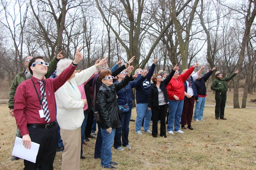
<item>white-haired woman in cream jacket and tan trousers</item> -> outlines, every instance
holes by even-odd
[[[66,58],[57,64],[56,75],[62,73],[72,60]],[[81,126],[84,119],[83,107],[85,99],[81,99],[78,86],[86,82],[97,71],[98,66],[106,63],[105,58],[94,66],[74,73],[61,88],[55,92],[57,106],[57,121],[60,127],[64,150],[61,170],[79,170],[81,152]]]

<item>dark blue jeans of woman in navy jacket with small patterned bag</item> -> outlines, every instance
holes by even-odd
[[[129,144],[128,135],[129,135],[129,124],[130,117],[132,114],[132,110],[128,112],[121,113],[121,128],[117,128],[115,130],[115,138],[114,138],[114,148],[118,148],[121,146],[127,146]],[[121,143],[122,137],[122,143]]]

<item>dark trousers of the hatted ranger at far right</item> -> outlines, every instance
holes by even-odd
[[[227,93],[219,93],[216,91],[215,93],[215,118],[223,118],[224,110],[226,106]]]

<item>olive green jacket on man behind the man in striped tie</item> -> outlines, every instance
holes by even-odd
[[[56,70],[58,61],[59,60],[57,59],[57,57],[53,58],[50,61],[49,67],[47,69],[47,73],[45,75],[46,79],[49,78],[50,75],[52,75],[52,73]],[[11,88],[10,88],[10,93],[9,93],[9,101],[8,101],[9,109],[13,109],[13,107],[14,107],[14,95],[15,95],[18,85],[26,80],[25,71],[26,71],[26,69],[19,72],[13,79],[13,82],[11,83]]]

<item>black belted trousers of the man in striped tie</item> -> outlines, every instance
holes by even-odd
[[[57,124],[49,129],[28,127],[32,142],[40,144],[35,163],[24,160],[24,170],[53,170],[57,149]]]

